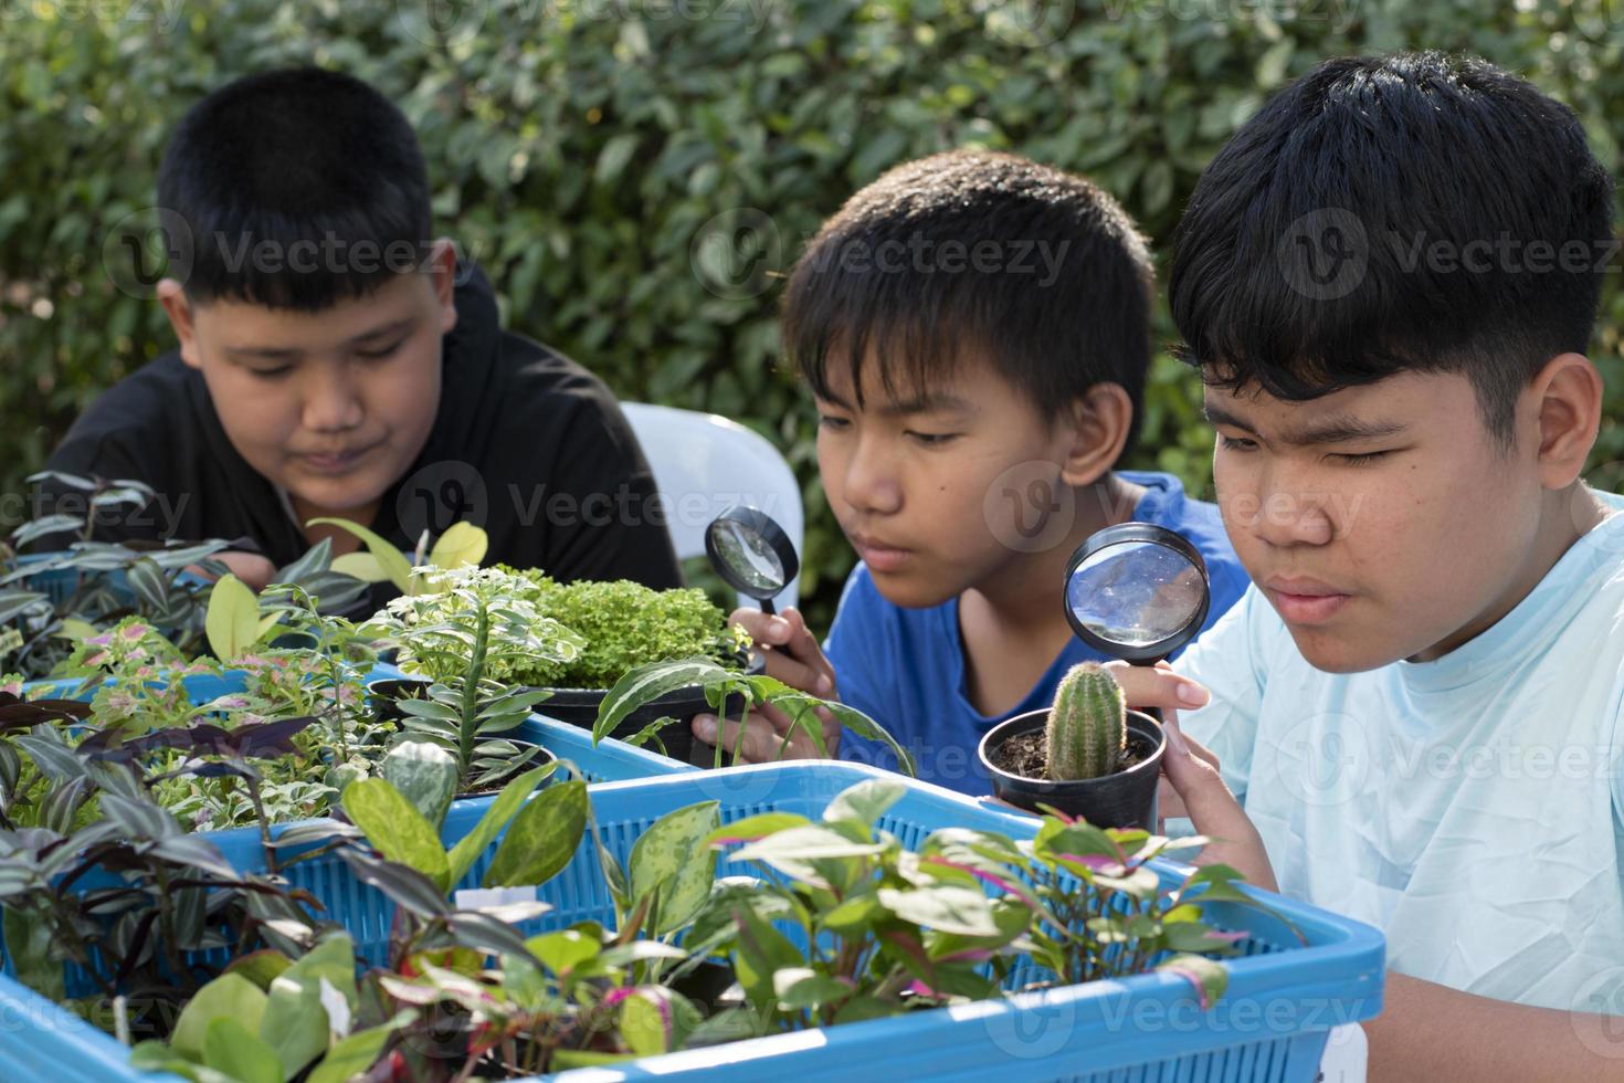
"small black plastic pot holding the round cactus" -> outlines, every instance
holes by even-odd
[[[992,776],[992,794],[1004,802],[1043,813],[1039,805],[1051,805],[1070,817],[1080,817],[1099,828],[1156,830],[1156,779],[1161,774],[1161,755],[1168,739],[1156,719],[1140,711],[1127,713],[1129,749],[1138,763],[1106,774],[1070,783],[1049,778],[1010,774],[992,763],[991,752],[1005,740],[1041,731],[1049,723],[1049,708],[1028,711],[1005,719],[987,731],[976,749],[981,765]]]

